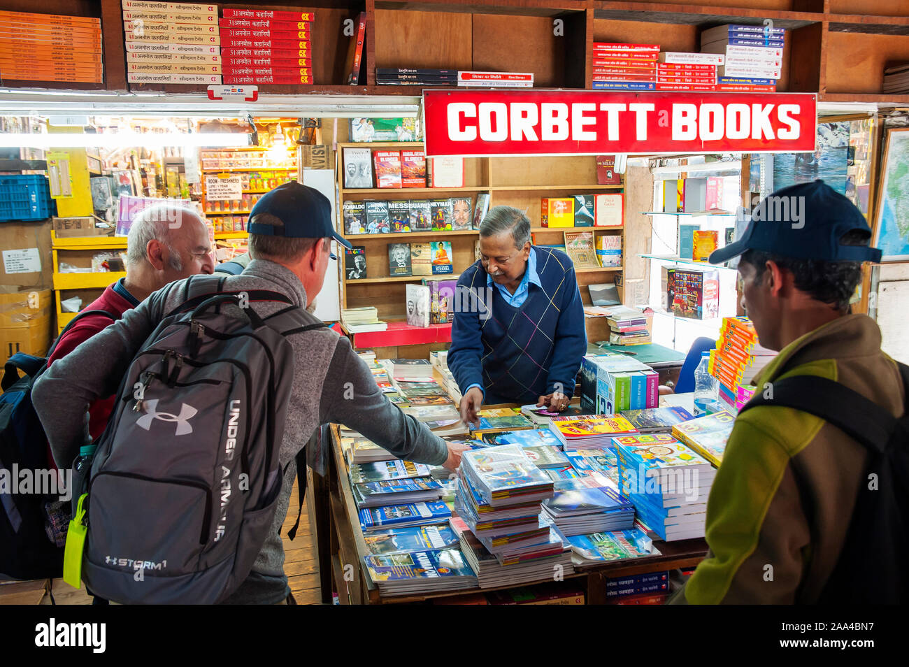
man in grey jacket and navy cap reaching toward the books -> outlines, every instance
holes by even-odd
[[[248,229],[252,261],[242,274],[225,276],[221,289],[274,291],[300,308],[314,301],[322,289],[325,270],[335,259],[330,252],[332,239],[351,247],[335,232],[325,195],[298,183],[286,183],[265,194],[250,213]],[[61,467],[73,462],[83,444],[85,405],[98,395],[117,391],[125,367],[155,326],[185,301],[184,287],[185,281],[177,281],[155,292],[122,320],[54,363],[35,384],[35,407]],[[260,301],[255,312],[267,318],[286,307]],[[225,306],[225,313],[231,308]],[[312,321],[318,322],[315,317]],[[287,369],[294,373],[294,382],[279,453],[285,479],[272,530],[253,571],[228,603],[275,604],[289,599],[280,531],[294,485],[295,466],[290,463],[320,424],[343,423],[395,456],[445,465],[452,471],[464,450],[463,445],[445,443],[389,403],[345,337],[320,328],[290,334],[287,340],[294,348],[294,367]]]

